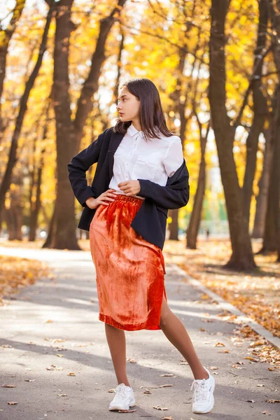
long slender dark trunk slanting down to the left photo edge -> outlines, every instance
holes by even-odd
[[[13,132],[13,137],[10,144],[8,165],[6,167],[6,172],[3,176],[3,180],[0,186],[0,212],[1,212],[1,209],[3,208],[6,192],[10,188],[10,180],[12,177],[13,167],[15,166],[15,162],[17,161],[18,139],[20,137],[20,132],[22,130],[23,119],[25,118],[25,113],[27,111],[27,102],[29,99],[29,94],[31,92],[32,87],[34,86],[36,77],[38,76],[38,71],[41,68],[41,64],[43,60],[43,54],[47,48],[48,30],[50,28],[51,19],[52,19],[52,8],[50,8],[48,11],[48,16],[45,22],[45,29],[43,31],[43,38],[41,41],[40,50],[38,52],[38,58],[37,58],[36,64],[25,85],[25,92],[20,99],[20,110],[18,112],[18,117],[15,121],[15,130]]]

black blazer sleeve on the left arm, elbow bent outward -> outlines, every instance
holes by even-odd
[[[102,140],[108,130],[109,129],[105,130],[102,134],[99,134],[97,139],[92,141],[90,146],[87,146],[83,151],[80,151],[80,153],[74,156],[67,165],[71,188],[76,199],[83,207],[87,207],[85,204],[87,198],[95,197],[94,190],[91,186],[87,185],[85,172],[91,165],[98,162]]]

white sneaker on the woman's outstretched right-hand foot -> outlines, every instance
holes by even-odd
[[[195,379],[190,390],[195,387],[193,393],[193,413],[208,413],[214,407],[215,379],[209,370],[203,366],[209,374],[208,379]]]

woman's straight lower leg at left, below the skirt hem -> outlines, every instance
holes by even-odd
[[[118,384],[130,386],[127,379],[125,331],[107,323],[105,323],[105,331]]]

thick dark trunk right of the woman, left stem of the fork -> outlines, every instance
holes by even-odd
[[[232,243],[232,255],[226,267],[251,270],[255,262],[232,151],[235,128],[230,125],[225,107],[225,17],[228,4],[228,0],[212,0],[211,3],[209,103]]]

